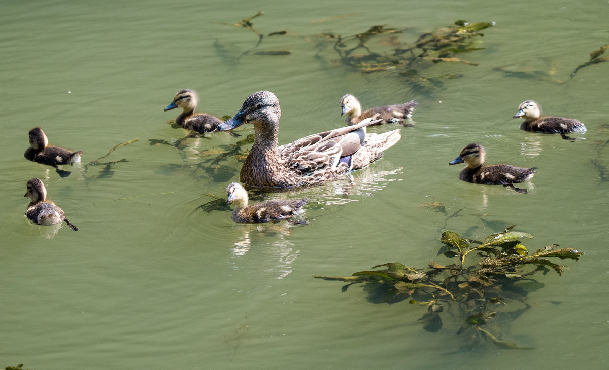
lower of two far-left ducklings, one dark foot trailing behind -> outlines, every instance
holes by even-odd
[[[40,179],[33,178],[27,181],[27,192],[24,197],[32,199],[27,206],[26,216],[33,222],[38,225],[55,225],[65,221],[69,228],[78,231],[78,228],[68,221],[63,209],[46,198],[46,189]]]

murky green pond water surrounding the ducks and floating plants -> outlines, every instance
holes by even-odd
[[[607,368],[609,63],[569,79],[609,42],[607,2],[5,1],[0,10],[0,367]],[[259,10],[256,30],[287,30],[259,48],[289,55],[238,58],[258,37],[220,23]],[[478,66],[426,71],[444,76],[437,89],[343,68],[332,43],[313,37],[384,24],[408,27],[398,38],[413,43],[457,19],[496,26],[479,39],[485,49],[459,55]],[[280,144],[340,127],[346,93],[364,109],[419,106],[415,127],[353,183],[253,198],[308,197],[308,225],[237,225],[228,208],[201,206],[225,198],[241,164],[205,151],[253,128],[185,138],[167,124],[177,111],[163,111],[183,88],[216,116],[275,92]],[[527,99],[584,122],[585,139],[519,130],[512,115]],[[24,159],[35,126],[51,144],[84,149],[83,164],[60,178]],[[102,159],[127,161],[85,166],[132,139]],[[462,167],[448,162],[470,142],[487,148],[488,163],[538,167],[529,194],[459,181]],[[33,177],[80,231],[27,222]],[[446,212],[422,206],[434,202]],[[446,229],[477,239],[512,224],[535,236],[529,250],[586,253],[562,261],[572,268],[564,276],[536,276],[545,286],[530,293],[532,309],[502,327],[502,340],[530,351],[464,350],[460,322],[429,333],[417,322],[424,308],[373,304],[361,287],[341,293],[340,282],[311,278],[446,263],[436,256]]]

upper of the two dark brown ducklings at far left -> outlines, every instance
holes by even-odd
[[[40,127],[34,127],[29,132],[30,136],[30,147],[27,148],[23,154],[26,159],[30,161],[38,162],[41,164],[48,164],[55,168],[60,176],[66,177],[71,172],[60,170],[59,165],[69,164],[72,166],[74,163],[80,163],[80,156],[83,150],[78,152],[72,152],[72,150],[54,147],[49,145],[49,139],[44,134],[44,131]]]

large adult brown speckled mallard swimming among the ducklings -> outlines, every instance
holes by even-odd
[[[246,123],[254,125],[255,140],[241,167],[241,183],[251,187],[293,187],[332,180],[368,166],[401,137],[399,129],[366,134],[365,127],[376,123],[367,119],[278,147],[280,118],[275,94],[258,91],[245,99],[233,118],[218,127],[232,130]]]

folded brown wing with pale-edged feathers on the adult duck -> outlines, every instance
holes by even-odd
[[[361,148],[365,127],[375,123],[370,119],[364,120],[357,125],[312,134],[277,149],[286,166],[301,176],[322,169],[336,169],[340,158],[350,156]]]

